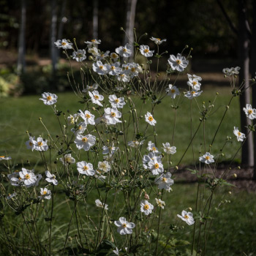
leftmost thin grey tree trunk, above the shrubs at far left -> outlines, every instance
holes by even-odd
[[[26,0],[21,0],[21,18],[20,18],[20,32],[19,32],[19,42],[18,42],[18,63],[17,72],[20,75],[26,72]]]

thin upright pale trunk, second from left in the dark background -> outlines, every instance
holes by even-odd
[[[57,26],[57,14],[56,14],[56,0],[51,1],[51,26],[50,26],[50,57],[52,61],[53,80],[56,77],[57,68],[57,50],[54,42],[56,42],[56,26]]]

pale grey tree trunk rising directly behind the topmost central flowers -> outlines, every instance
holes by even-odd
[[[124,45],[129,42],[133,44],[134,42],[134,31],[133,28],[135,26],[135,12],[136,12],[136,4],[137,0],[127,0],[127,22],[125,31],[127,35],[124,36]],[[133,53],[131,58],[133,57]]]

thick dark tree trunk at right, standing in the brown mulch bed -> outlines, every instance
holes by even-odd
[[[246,20],[246,3],[243,0],[238,1],[238,12],[239,12],[239,30],[238,30],[238,50],[239,50],[239,66],[241,72],[239,74],[239,84],[244,82],[244,88],[249,86],[249,31],[248,22]],[[248,127],[249,118],[246,117],[243,108],[246,103],[250,103],[250,90],[246,89],[244,94],[240,97],[240,116],[241,116],[241,131],[246,135],[249,133]],[[249,133],[242,147],[242,160],[241,165],[249,167],[254,165],[254,153],[253,153],[253,139],[252,132]]]

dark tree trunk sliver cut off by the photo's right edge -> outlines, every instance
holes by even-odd
[[[253,13],[252,13],[253,21],[252,21],[252,39],[251,39],[251,61],[250,61],[250,71],[252,78],[255,78],[256,72],[256,0],[253,1]],[[252,86],[252,108],[256,108],[256,85]],[[256,120],[254,120],[254,124],[256,124]],[[253,179],[256,180],[256,134],[254,132],[253,138],[253,146],[254,146],[254,168],[253,168]]]

